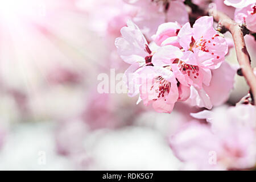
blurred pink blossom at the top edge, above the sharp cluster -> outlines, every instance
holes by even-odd
[[[148,39],[155,34],[159,24],[165,22],[178,22],[184,24],[188,22],[188,12],[184,5],[184,0],[171,1],[151,1],[151,0],[124,0],[125,2],[139,7],[137,15],[133,21],[138,24],[143,34]]]

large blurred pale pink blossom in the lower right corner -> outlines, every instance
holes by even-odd
[[[221,107],[193,116],[207,118],[210,123],[189,122],[170,138],[172,150],[185,167],[208,170],[248,169],[254,166],[254,106]]]

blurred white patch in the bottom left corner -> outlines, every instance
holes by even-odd
[[[13,126],[0,151],[1,170],[67,170],[71,164],[55,152],[52,123],[22,123]],[[46,154],[45,158],[41,154]],[[46,159],[42,163],[41,158]]]

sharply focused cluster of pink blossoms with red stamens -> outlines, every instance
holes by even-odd
[[[197,19],[193,27],[188,22],[183,26],[177,22],[160,24],[150,44],[131,20],[121,34],[115,46],[121,58],[131,64],[125,72],[130,96],[139,93],[144,105],[152,104],[163,113],[171,113],[175,102],[188,98],[212,107],[204,88],[228,53],[226,40],[213,28],[212,16]],[[198,97],[190,97],[195,92]]]

